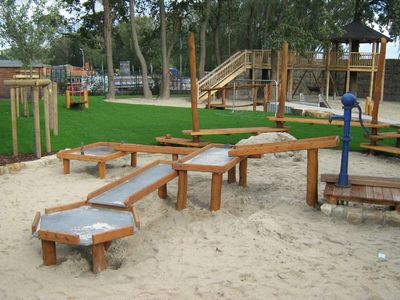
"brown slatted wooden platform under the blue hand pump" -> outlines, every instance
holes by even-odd
[[[400,178],[373,176],[349,176],[351,186],[336,186],[337,175],[323,174],[326,182],[324,197],[328,203],[337,204],[339,200],[393,206],[400,211]]]

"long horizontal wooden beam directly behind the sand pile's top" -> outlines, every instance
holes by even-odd
[[[289,128],[275,127],[248,127],[248,128],[217,128],[217,129],[201,129],[199,131],[182,130],[185,135],[202,136],[202,135],[231,135],[231,134],[260,134],[268,132],[288,132]]]

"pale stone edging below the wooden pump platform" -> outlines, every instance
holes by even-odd
[[[326,216],[345,219],[353,225],[372,223],[400,226],[400,213],[395,210],[376,210],[324,203],[321,205],[321,212]]]

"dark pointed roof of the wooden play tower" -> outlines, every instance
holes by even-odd
[[[331,36],[332,42],[348,43],[349,40],[359,41],[360,43],[379,42],[381,38],[385,38],[388,42],[392,39],[359,22],[353,21],[342,27],[342,34],[334,34]]]

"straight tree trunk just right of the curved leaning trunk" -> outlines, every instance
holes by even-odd
[[[161,57],[162,57],[162,76],[160,98],[168,99],[169,93],[169,69],[167,55],[167,29],[165,20],[165,4],[164,0],[159,0],[160,5],[160,25],[161,25]]]

